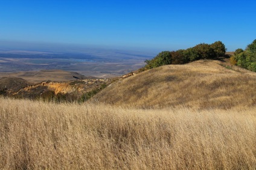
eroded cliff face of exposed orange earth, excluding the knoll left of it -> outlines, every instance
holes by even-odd
[[[15,79],[15,82],[17,80]],[[15,83],[13,82],[13,83]],[[94,90],[101,90],[110,84],[110,79],[78,79],[69,82],[51,82],[44,81],[35,85],[23,85],[16,88],[6,87],[5,93],[7,96],[22,97],[28,99],[39,98],[54,98],[61,96],[63,99],[67,97],[72,100],[77,100],[83,94],[89,93]],[[9,84],[12,84],[9,82]]]

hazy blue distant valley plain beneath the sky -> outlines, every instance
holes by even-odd
[[[154,55],[106,49],[75,52],[0,50],[0,76],[17,71],[65,70],[85,76],[115,77],[141,68],[144,61]]]

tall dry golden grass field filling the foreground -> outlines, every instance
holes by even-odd
[[[256,108],[132,109],[0,98],[0,169],[255,169]]]

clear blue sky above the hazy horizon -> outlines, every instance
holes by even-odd
[[[0,40],[186,49],[256,39],[256,1],[0,0]]]

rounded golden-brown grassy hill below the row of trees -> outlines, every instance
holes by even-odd
[[[94,101],[118,106],[233,108],[256,105],[256,73],[225,61],[164,65],[120,79]]]

